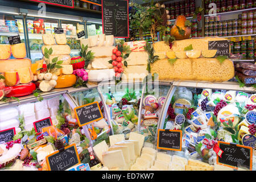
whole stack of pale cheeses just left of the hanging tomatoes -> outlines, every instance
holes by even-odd
[[[113,35],[95,35],[89,36],[88,39],[80,40],[81,46],[88,46],[87,51],[94,53],[94,59],[88,65],[88,81],[101,82],[113,80],[115,73],[112,64],[112,50],[115,48]]]

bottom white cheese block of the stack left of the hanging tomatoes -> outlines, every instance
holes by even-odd
[[[113,80],[115,76],[114,69],[88,69],[88,81],[109,81]]]

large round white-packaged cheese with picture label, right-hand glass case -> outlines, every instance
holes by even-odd
[[[237,115],[240,115],[238,108],[232,104],[229,104],[223,107],[220,111],[218,111],[217,121],[221,122],[222,127],[225,127],[223,125],[223,122],[226,122],[228,124],[230,120],[233,122],[234,128],[239,122],[239,118]]]

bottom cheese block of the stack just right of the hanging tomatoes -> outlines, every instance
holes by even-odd
[[[143,80],[147,74],[147,65],[123,67],[123,80]]]

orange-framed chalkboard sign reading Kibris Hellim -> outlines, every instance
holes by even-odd
[[[65,147],[63,151],[56,151],[46,156],[49,171],[65,171],[72,166],[80,164],[76,144]]]

